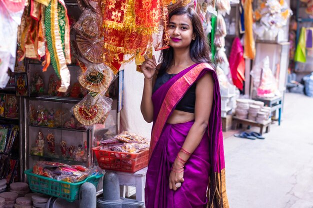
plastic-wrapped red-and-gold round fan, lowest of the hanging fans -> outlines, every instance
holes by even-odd
[[[86,95],[79,103],[74,105],[71,112],[78,122],[85,126],[91,126],[101,120],[110,111],[112,99],[104,98],[100,94],[92,98]]]

